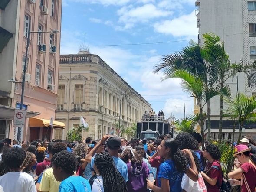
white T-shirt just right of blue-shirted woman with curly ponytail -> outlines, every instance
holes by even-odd
[[[181,188],[186,192],[207,192],[201,173],[198,173],[198,181],[195,182],[186,174],[182,177]]]

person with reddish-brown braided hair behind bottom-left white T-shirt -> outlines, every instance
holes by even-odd
[[[36,172],[32,168],[36,165],[36,155],[32,152],[26,152],[26,157],[20,166],[21,171],[30,174],[33,178],[36,177]]]

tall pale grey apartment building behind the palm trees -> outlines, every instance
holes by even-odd
[[[256,1],[254,0],[197,0],[196,10],[197,27],[199,29],[198,42],[202,44],[203,33],[213,32],[223,39],[225,51],[229,54],[231,62],[253,62],[256,59]],[[232,97],[236,97],[237,86],[240,92],[246,96],[256,94],[256,86],[248,86],[245,75],[238,74],[227,81]],[[220,97],[214,97],[211,104],[211,136],[218,137]],[[195,112],[198,106],[195,102]],[[225,109],[225,103],[224,103]],[[205,109],[206,110],[206,109]],[[207,122],[205,122],[207,126]],[[206,127],[205,127],[206,128]],[[232,123],[223,121],[223,139],[232,138]],[[256,139],[256,124],[246,125],[243,135]],[[207,130],[206,130],[207,131]],[[238,129],[235,139],[238,137]]]

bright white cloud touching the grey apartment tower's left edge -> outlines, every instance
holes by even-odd
[[[182,15],[173,20],[165,20],[154,24],[158,33],[173,35],[174,37],[187,37],[195,39],[198,34],[197,18],[195,12]]]

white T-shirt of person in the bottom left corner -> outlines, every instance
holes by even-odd
[[[5,192],[36,192],[34,179],[22,171],[7,172],[3,176],[0,176],[0,185]]]

